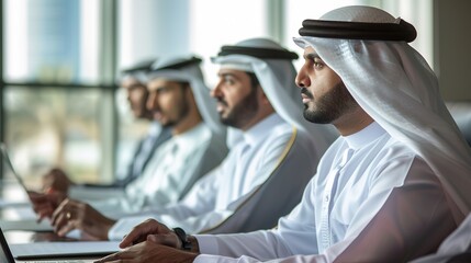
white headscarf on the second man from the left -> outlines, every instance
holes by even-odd
[[[213,133],[225,137],[225,127],[218,122],[215,100],[210,96],[210,90],[204,83],[203,73],[195,56],[164,57],[153,65],[147,75],[147,81],[164,78],[171,81],[188,82],[193,92],[198,110],[204,123]]]

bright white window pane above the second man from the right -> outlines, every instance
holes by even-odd
[[[191,1],[190,49],[206,59],[203,69],[209,85],[215,84],[217,79],[217,66],[209,58],[216,56],[221,46],[270,36],[268,4],[270,1],[260,0]]]

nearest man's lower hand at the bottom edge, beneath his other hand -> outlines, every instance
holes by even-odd
[[[149,236],[150,237],[150,236]],[[114,254],[96,261],[102,262],[130,262],[130,263],[154,263],[154,262],[193,262],[197,253],[178,250],[167,245],[158,244],[152,240],[132,245]]]

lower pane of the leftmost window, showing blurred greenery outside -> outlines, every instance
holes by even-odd
[[[75,180],[97,181],[100,91],[5,87],[7,144],[26,182],[59,165]],[[80,176],[77,178],[77,176]]]

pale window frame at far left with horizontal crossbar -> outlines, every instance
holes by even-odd
[[[102,161],[100,167],[100,180],[110,180],[113,176],[116,162],[116,141],[119,138],[119,119],[115,111],[115,94],[120,88],[116,83],[117,72],[117,3],[114,0],[100,1],[100,28],[102,34],[99,42],[99,80],[97,84],[87,84],[78,81],[77,83],[59,83],[59,82],[36,82],[36,81],[5,81],[3,71],[4,58],[4,23],[0,20],[0,141],[7,138],[7,114],[4,108],[4,93],[7,87],[26,87],[40,90],[41,89],[80,89],[80,90],[97,90],[103,93],[102,108],[100,123],[100,138],[102,139]],[[4,1],[0,4],[0,13],[4,15]],[[113,152],[113,155],[103,153]],[[0,180],[4,178],[3,162],[0,162]]]

